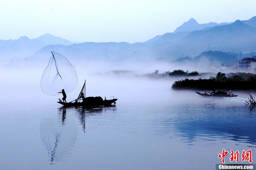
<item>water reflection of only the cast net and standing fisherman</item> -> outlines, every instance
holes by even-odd
[[[40,123],[41,138],[48,150],[51,164],[65,161],[71,155],[77,137],[76,122],[74,119],[66,119],[66,108],[59,109],[57,116],[44,118]]]

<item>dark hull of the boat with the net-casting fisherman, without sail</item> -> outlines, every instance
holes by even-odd
[[[63,106],[111,106],[112,103],[116,102],[117,99],[111,100],[102,100],[102,101],[86,101],[86,102],[74,102],[74,103],[66,103],[66,102],[57,102],[62,104]]]

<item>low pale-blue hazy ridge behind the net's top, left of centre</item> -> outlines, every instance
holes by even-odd
[[[49,60],[51,51],[61,53],[70,60],[86,62],[88,60],[123,61],[125,59],[139,59],[146,56],[148,47],[142,43],[129,44],[126,42],[95,43],[85,42],[70,46],[49,45],[38,50],[29,57],[31,60]]]

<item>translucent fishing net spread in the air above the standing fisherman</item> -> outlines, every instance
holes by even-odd
[[[62,89],[68,93],[75,89],[78,82],[75,67],[66,57],[52,52],[48,66],[44,69],[41,78],[41,89],[51,96],[60,95]]]

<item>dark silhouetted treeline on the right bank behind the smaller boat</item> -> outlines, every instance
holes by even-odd
[[[231,76],[232,75],[232,76]],[[250,73],[225,73],[219,72],[211,79],[182,79],[172,84],[173,89],[256,89],[256,75]]]

